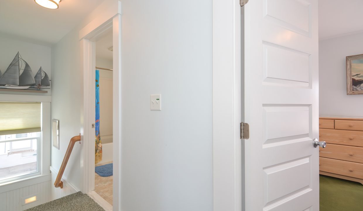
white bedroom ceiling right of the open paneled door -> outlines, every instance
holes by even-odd
[[[319,0],[319,40],[363,32],[362,0]]]

